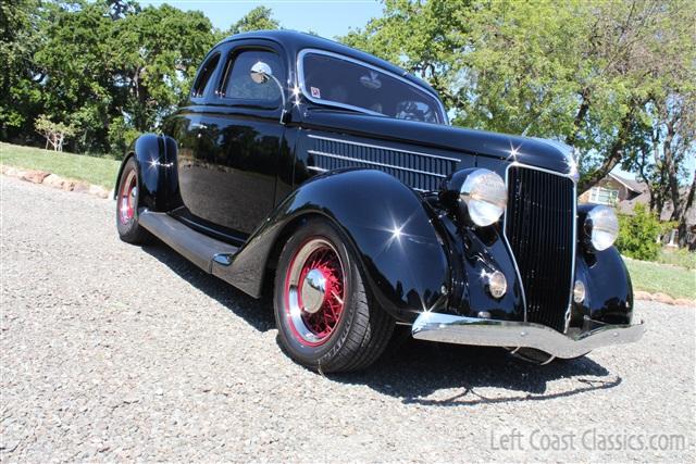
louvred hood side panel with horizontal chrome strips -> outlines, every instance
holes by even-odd
[[[455,172],[459,160],[415,151],[396,150],[328,137],[310,136],[309,168],[333,171],[346,167],[380,170],[414,190],[437,190],[442,180]]]

